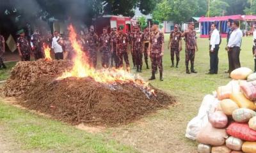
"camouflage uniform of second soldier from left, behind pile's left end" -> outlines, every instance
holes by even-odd
[[[17,40],[17,47],[20,47],[20,52],[22,54],[21,61],[30,61],[31,48],[29,46],[29,41],[24,37],[19,37]]]

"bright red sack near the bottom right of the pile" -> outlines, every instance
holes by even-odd
[[[233,122],[227,128],[228,135],[248,142],[256,142],[256,131],[249,128],[248,124]]]

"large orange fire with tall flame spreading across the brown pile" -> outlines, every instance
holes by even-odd
[[[143,81],[138,75],[134,75],[125,71],[124,69],[100,69],[96,70],[90,64],[88,64],[88,57],[84,54],[81,46],[77,41],[77,34],[74,30],[74,27],[70,25],[68,27],[69,30],[69,40],[72,43],[72,47],[74,48],[74,52],[76,52],[76,56],[73,58],[74,66],[71,71],[66,71],[63,75],[57,80],[61,80],[68,77],[91,77],[96,82],[100,82],[102,84],[115,85],[116,82],[120,84],[124,83],[134,83],[137,87],[140,87],[143,92],[148,96],[156,96],[153,89],[150,89],[147,82]]]

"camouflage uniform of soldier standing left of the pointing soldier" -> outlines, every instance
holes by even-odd
[[[181,34],[180,31],[171,31],[170,33],[170,41],[171,41],[171,61],[172,66],[174,65],[174,54],[176,55],[176,66],[178,66],[180,61],[180,41],[181,41]]]

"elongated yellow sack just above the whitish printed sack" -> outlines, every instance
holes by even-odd
[[[256,110],[256,105],[252,101],[246,99],[246,97],[242,93],[239,93],[239,94],[232,93],[231,96],[230,96],[230,99],[235,101],[236,104],[240,108],[248,108],[248,109],[251,109],[251,110]]]

